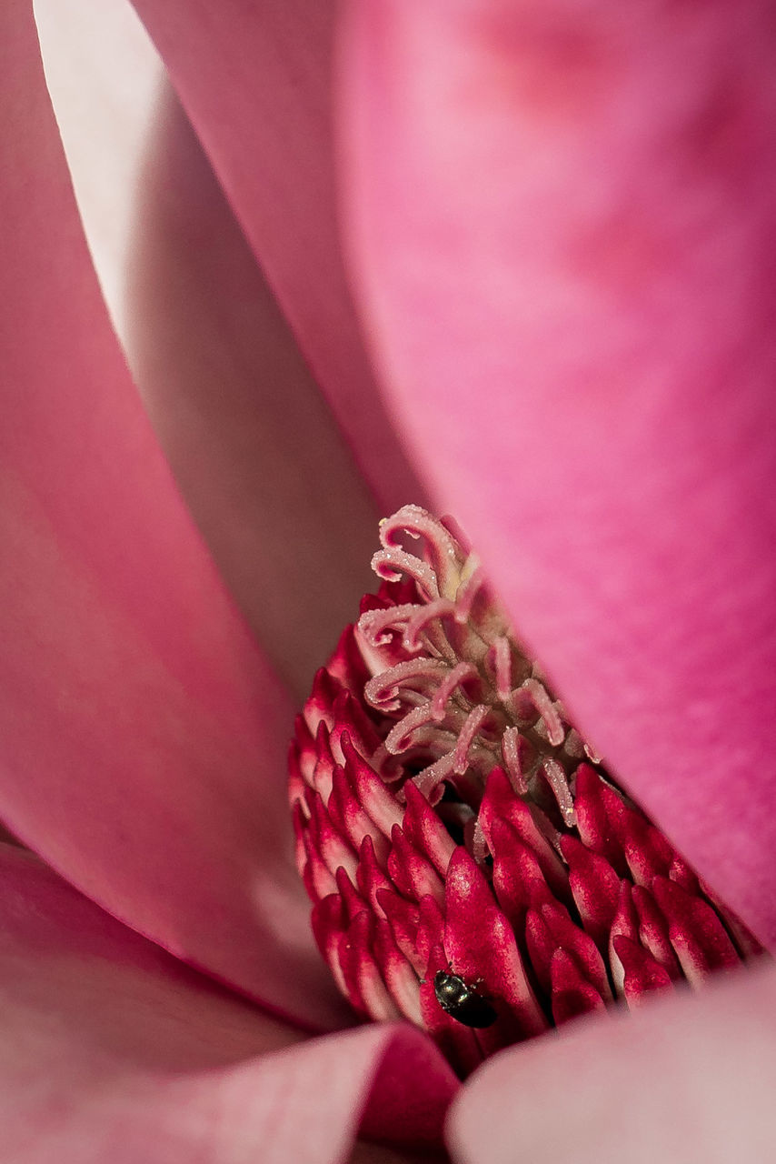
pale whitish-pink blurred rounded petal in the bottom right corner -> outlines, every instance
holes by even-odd
[[[770,1159],[775,1008],[769,966],[513,1048],[462,1090],[453,1154],[467,1164]]]

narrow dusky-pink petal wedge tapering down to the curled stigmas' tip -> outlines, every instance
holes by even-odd
[[[418,496],[376,396],[340,254],[333,0],[136,0],[269,284],[387,509]]]

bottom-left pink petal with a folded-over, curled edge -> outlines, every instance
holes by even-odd
[[[370,1027],[293,1046],[298,1032],[176,963],[30,854],[1,846],[0,871],[3,1159],[335,1164],[370,1092],[391,1110],[413,1086],[428,1098],[425,1123],[413,1127],[415,1103],[393,1143],[439,1136],[454,1084],[419,1032]]]

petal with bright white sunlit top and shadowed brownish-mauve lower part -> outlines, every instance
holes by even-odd
[[[38,23],[130,369],[221,576],[301,700],[369,585],[379,514],[131,7],[43,2]]]

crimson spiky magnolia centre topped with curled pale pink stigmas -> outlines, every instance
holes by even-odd
[[[760,952],[568,723],[460,531],[405,505],[380,541],[379,592],[318,673],[290,758],[313,929],[356,1010],[405,1016],[465,1073]],[[440,972],[494,1021],[448,1013]]]

